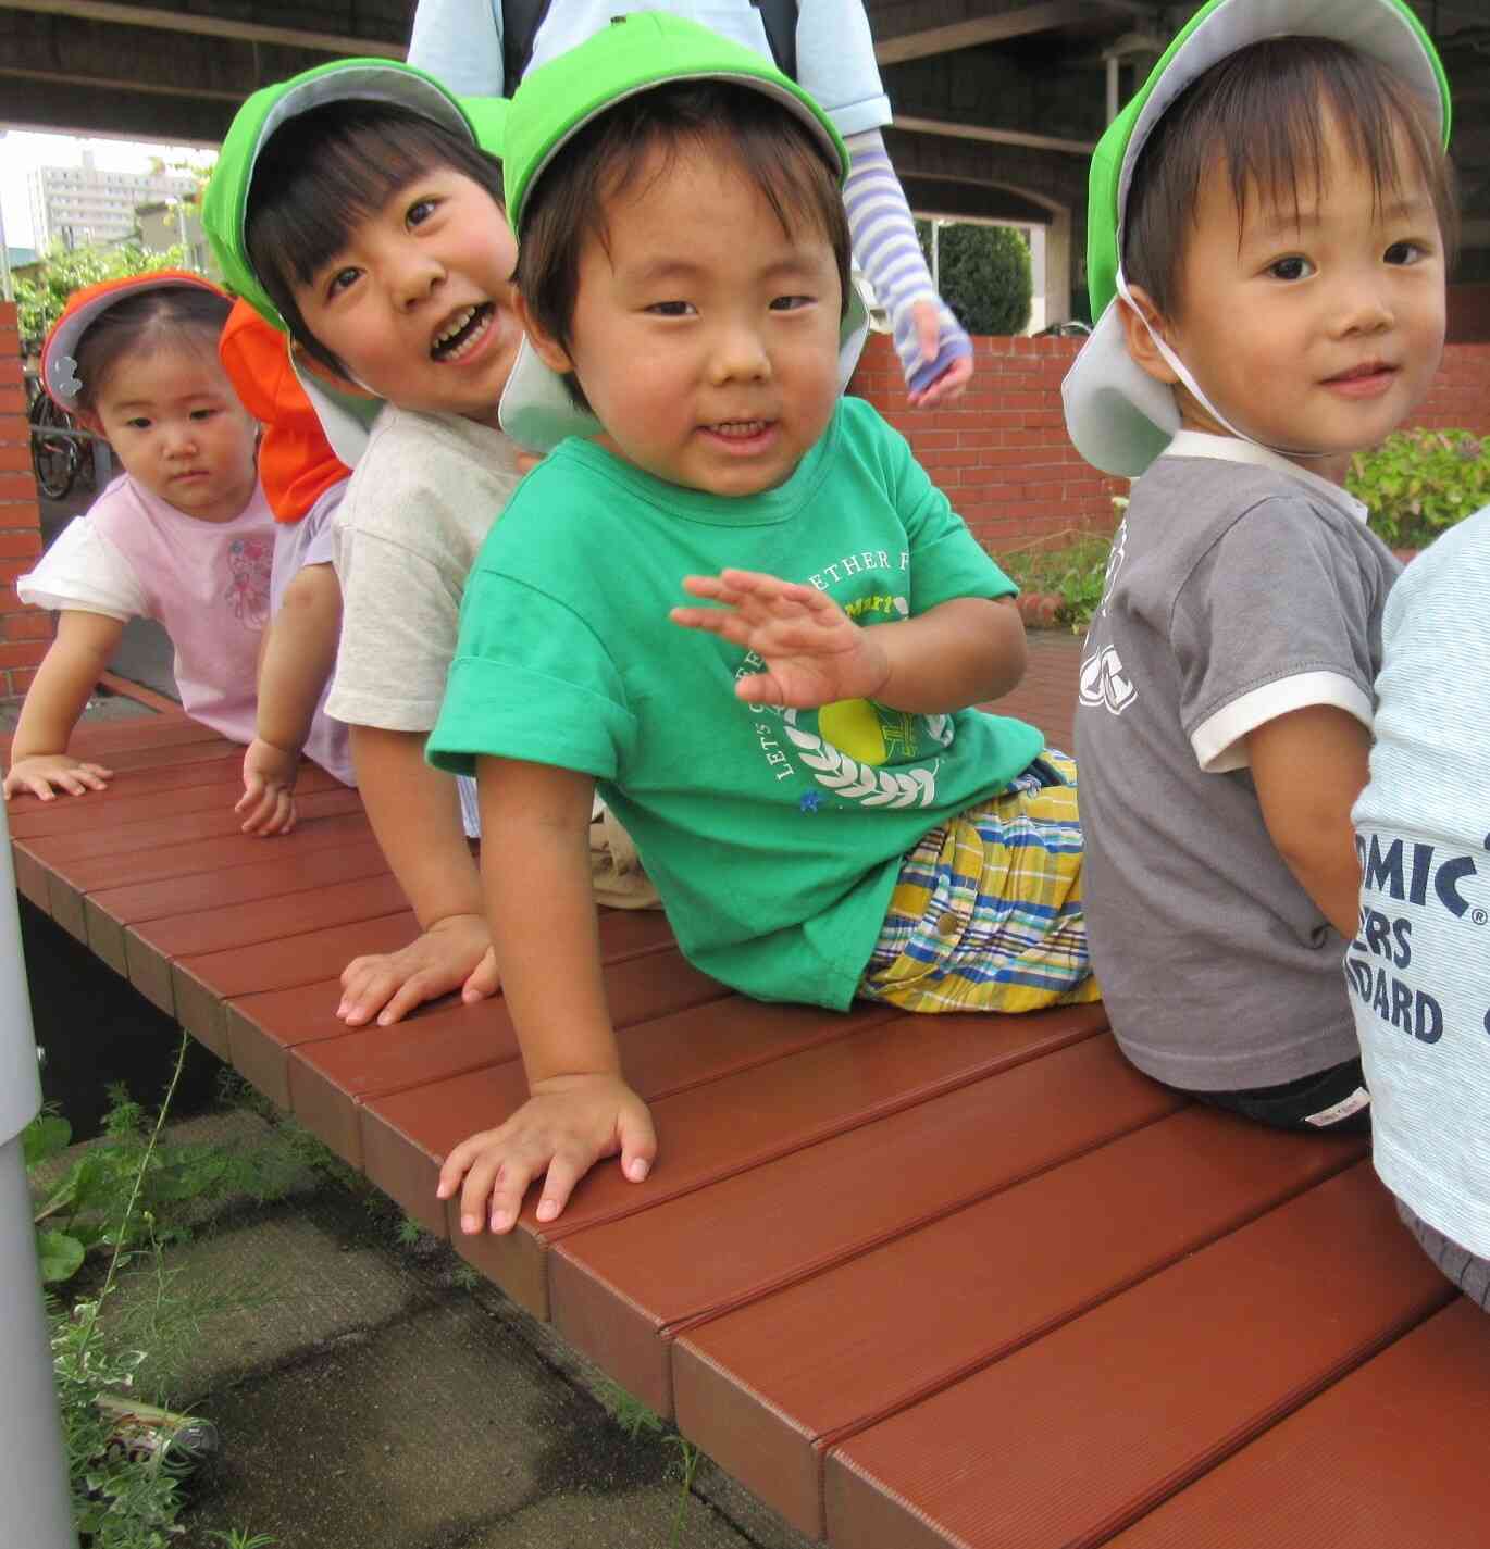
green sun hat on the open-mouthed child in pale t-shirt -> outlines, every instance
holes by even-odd
[[[254,91],[237,110],[202,200],[202,225],[223,280],[267,322],[288,333],[248,257],[245,220],[259,153],[274,130],[327,102],[386,102],[431,119],[493,156],[502,155],[509,102],[504,98],[457,98],[412,65],[391,59],[338,59]],[[367,445],[383,400],[343,392],[304,366],[291,352],[332,451],[349,468]]]

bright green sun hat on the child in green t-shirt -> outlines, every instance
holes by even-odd
[[[628,98],[676,81],[727,81],[780,102],[817,141],[839,183],[848,150],[823,110],[763,54],[698,22],[662,11],[633,11],[524,76],[507,118],[502,175],[507,218],[523,243],[523,214],[533,186],[558,152],[592,119]],[[868,333],[868,311],[851,285],[839,330],[839,389],[848,386]],[[580,421],[586,420],[586,424]],[[564,435],[595,435],[563,378],[524,339],[501,404],[502,429],[523,446],[547,451]]]

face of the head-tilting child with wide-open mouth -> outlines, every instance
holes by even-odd
[[[316,339],[377,397],[496,424],[521,339],[515,263],[491,195],[436,167],[357,226],[295,299]]]

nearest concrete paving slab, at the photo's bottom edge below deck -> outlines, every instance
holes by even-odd
[[[237,1524],[278,1549],[660,1546],[679,1499],[674,1448],[626,1439],[459,1293],[194,1413],[223,1442],[188,1520],[203,1541]],[[749,1543],[692,1507],[681,1544]]]

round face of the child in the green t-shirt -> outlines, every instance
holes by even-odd
[[[712,146],[657,150],[580,257],[574,369],[605,445],[690,489],[758,494],[791,477],[839,397],[837,262],[805,218],[788,232]]]

